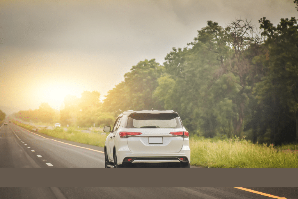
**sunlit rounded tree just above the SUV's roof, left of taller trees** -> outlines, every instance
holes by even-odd
[[[155,59],[145,59],[132,66],[131,71],[125,73],[125,80],[108,92],[103,102],[104,110],[118,114],[124,110],[159,109],[160,105],[153,99],[153,92],[162,72],[163,67]]]

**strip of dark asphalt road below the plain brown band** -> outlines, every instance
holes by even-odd
[[[260,188],[250,188],[260,189]],[[0,188],[0,198],[13,199],[297,199],[297,188],[261,188],[253,193],[236,188],[148,187],[148,188]],[[265,196],[264,194],[270,194]],[[263,195],[262,195],[263,194]],[[273,195],[274,194],[274,195]]]

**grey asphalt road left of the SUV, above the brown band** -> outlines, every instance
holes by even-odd
[[[29,132],[13,123],[0,128],[0,167],[104,167],[102,147]]]

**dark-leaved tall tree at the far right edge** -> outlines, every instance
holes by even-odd
[[[259,103],[270,104],[273,117],[268,121],[271,129],[271,142],[276,143],[278,136],[286,134],[289,120],[296,123],[298,140],[298,26],[297,20],[281,19],[275,27],[265,17],[259,20],[266,37],[268,56],[264,62],[267,74],[257,84],[256,93]],[[289,120],[284,120],[288,118]]]

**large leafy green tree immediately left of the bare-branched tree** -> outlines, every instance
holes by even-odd
[[[220,109],[218,104],[229,104],[218,103],[225,97],[215,96],[213,91],[216,82],[226,73],[224,62],[230,48],[226,45],[224,33],[218,23],[208,21],[188,47],[183,50],[173,48],[164,62],[168,76],[159,79],[156,89],[156,95],[164,101],[165,108],[179,112],[189,130],[206,137],[213,137],[221,131],[220,114],[216,114],[214,109]]]

